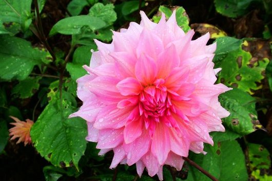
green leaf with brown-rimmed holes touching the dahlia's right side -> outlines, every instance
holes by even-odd
[[[219,96],[221,105],[230,112],[230,115],[223,118],[223,124],[230,130],[246,135],[257,129],[263,129],[257,119],[255,110],[255,98],[248,93],[233,89]]]

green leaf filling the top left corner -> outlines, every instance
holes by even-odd
[[[26,31],[31,23],[31,3],[32,0],[16,1],[2,0],[0,1],[0,19],[4,23],[15,22],[21,25],[23,31]]]

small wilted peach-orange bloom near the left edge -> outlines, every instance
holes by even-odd
[[[24,142],[25,146],[27,144],[31,144],[31,137],[30,137],[30,129],[33,125],[33,121],[30,119],[26,119],[26,122],[22,122],[17,117],[10,116],[16,123],[10,123],[14,125],[13,128],[9,129],[9,135],[12,136],[10,139],[13,140],[15,138],[19,138],[16,144]]]

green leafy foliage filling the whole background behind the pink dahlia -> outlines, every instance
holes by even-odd
[[[268,0],[0,0],[0,175],[3,180],[158,180],[135,166],[110,170],[112,153],[98,156],[85,141],[86,124],[67,116],[81,105],[75,80],[85,75],[93,39],[112,40],[111,30],[139,22],[139,10],[159,22],[177,21],[193,39],[210,32],[218,83],[233,90],[220,95],[231,113],[226,132],[211,133],[215,146],[189,157],[224,180],[272,180],[272,2]],[[13,120],[34,120],[33,145],[9,140]],[[16,174],[14,174],[16,173]],[[185,163],[165,167],[165,180],[209,180]]]

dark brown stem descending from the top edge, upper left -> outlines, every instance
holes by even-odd
[[[41,39],[41,41],[45,45],[46,49],[49,51],[50,55],[53,57],[53,60],[55,60],[56,56],[55,56],[53,50],[51,49],[51,47],[49,46],[49,44],[47,42],[47,38],[46,38],[46,36],[44,34],[43,24],[42,24],[42,20],[41,20],[40,11],[38,9],[38,2],[37,2],[37,0],[34,0],[34,5],[35,5],[36,14],[37,14],[37,28],[38,28],[38,32],[40,32],[39,33],[40,37],[38,36],[38,38]],[[33,33],[35,35],[37,35],[35,32],[33,32]]]

